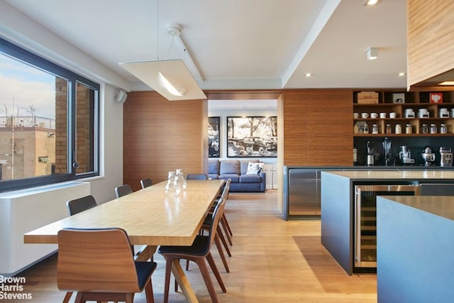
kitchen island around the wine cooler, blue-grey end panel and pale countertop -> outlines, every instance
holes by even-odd
[[[454,185],[451,170],[345,170],[321,172],[321,243],[349,275],[354,268],[355,185]],[[421,187],[422,188],[422,187]],[[421,197],[423,199],[423,197]]]

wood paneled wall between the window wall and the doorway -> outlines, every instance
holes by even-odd
[[[131,92],[123,111],[124,183],[139,189],[140,179],[167,180],[176,168],[185,174],[208,171],[206,100],[168,101],[156,92]]]

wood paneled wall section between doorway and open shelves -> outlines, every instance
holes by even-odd
[[[283,93],[284,165],[353,165],[353,90]]]

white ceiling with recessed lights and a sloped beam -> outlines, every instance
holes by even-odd
[[[397,76],[406,72],[406,0],[3,1],[131,87],[140,83],[119,62],[184,56],[167,34],[172,23],[182,25],[202,89],[406,87]],[[377,60],[366,60],[370,46]]]

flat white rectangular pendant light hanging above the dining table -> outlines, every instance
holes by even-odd
[[[125,62],[120,65],[167,100],[206,99],[183,60]]]

